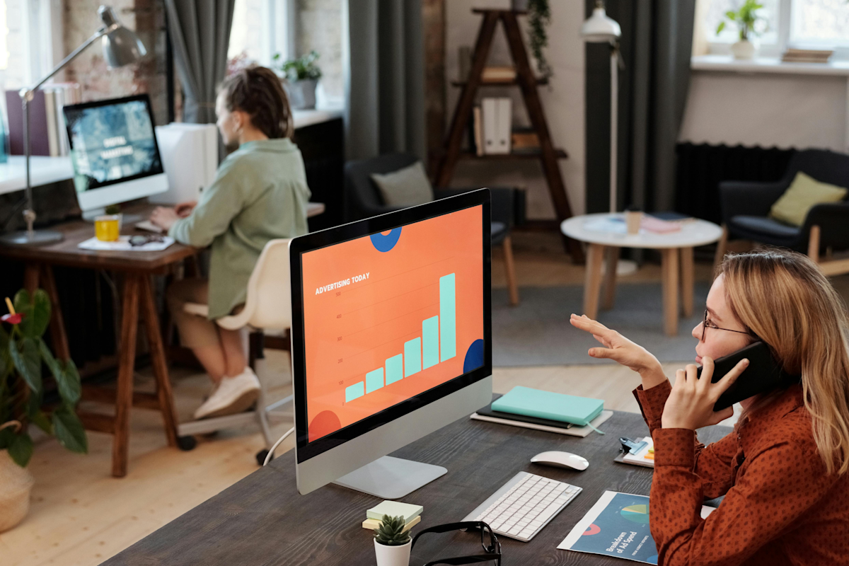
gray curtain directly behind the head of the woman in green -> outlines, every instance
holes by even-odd
[[[183,86],[183,121],[215,122],[216,86],[227,70],[236,0],[165,0],[168,33]]]

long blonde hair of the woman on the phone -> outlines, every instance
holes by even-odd
[[[720,272],[734,316],[769,345],[785,371],[801,374],[813,440],[827,472],[846,474],[849,318],[841,296],[807,255],[784,249],[727,255]]]

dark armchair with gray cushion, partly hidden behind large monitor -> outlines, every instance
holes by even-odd
[[[373,173],[391,173],[413,165],[418,157],[410,154],[380,155],[368,160],[349,161],[345,165],[345,193],[347,195],[346,219],[348,221],[368,218],[399,210],[403,207],[384,205],[380,190],[371,179]],[[445,199],[465,193],[471,188],[435,188],[434,199]],[[504,249],[504,267],[507,272],[507,287],[510,304],[519,304],[519,288],[516,283],[513,261],[513,246],[510,228],[525,218],[525,191],[517,188],[490,188],[492,193],[492,245],[501,244]]]

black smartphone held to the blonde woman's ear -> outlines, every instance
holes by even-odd
[[[714,411],[722,411],[725,407],[732,406],[734,403],[748,399],[753,395],[789,387],[792,384],[799,383],[801,379],[799,375],[786,373],[779,361],[773,357],[766,342],[758,340],[733,354],[714,360],[711,383],[715,384],[725,377],[725,374],[730,372],[744,358],[749,360],[749,367],[746,367],[743,373],[740,373],[737,381],[722,394],[713,406]],[[699,377],[701,377],[701,370],[700,367]]]

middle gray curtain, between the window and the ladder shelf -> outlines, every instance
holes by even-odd
[[[347,0],[346,157],[424,160],[421,0]]]

